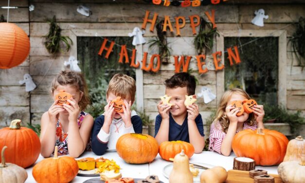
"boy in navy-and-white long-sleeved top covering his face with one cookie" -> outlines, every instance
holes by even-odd
[[[105,112],[97,117],[92,129],[92,150],[96,155],[116,151],[116,142],[126,133],[142,133],[142,120],[130,110],[135,101],[136,82],[125,74],[115,74],[108,85]],[[114,110],[112,100],[120,96],[124,100],[123,113]]]

